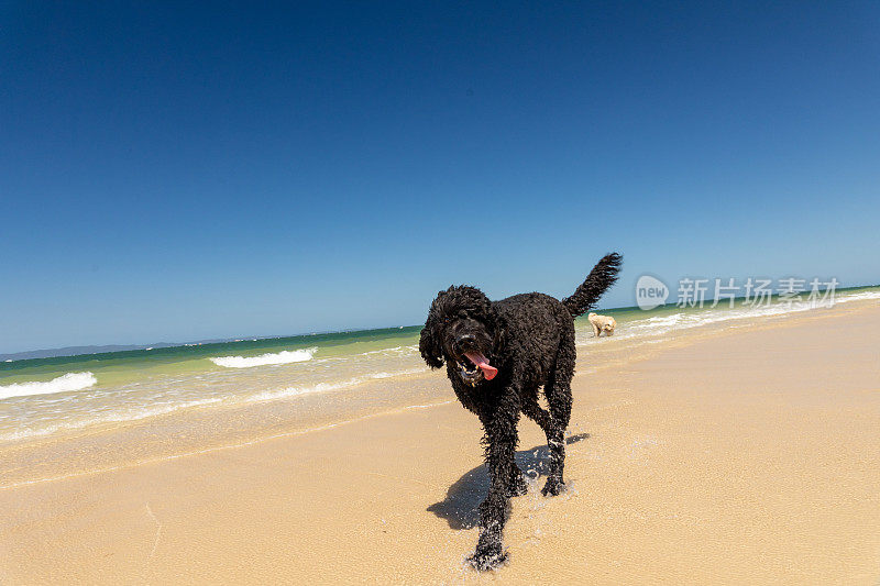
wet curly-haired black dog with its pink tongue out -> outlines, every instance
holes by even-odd
[[[561,302],[538,292],[490,301],[480,289],[463,285],[440,291],[431,303],[419,340],[421,356],[431,368],[446,361],[455,395],[477,414],[485,432],[492,484],[480,505],[480,541],[469,557],[477,570],[497,567],[506,560],[502,531],[509,499],[527,490],[514,462],[520,412],[547,434],[550,474],[541,493],[554,496],[564,487],[564,433],[576,357],[574,318],[614,284],[620,262],[617,253],[606,255]],[[538,405],[539,387],[549,412]]]

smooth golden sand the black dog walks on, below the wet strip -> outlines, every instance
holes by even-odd
[[[487,475],[479,423],[450,390],[0,490],[0,583],[877,584],[878,330],[877,302],[851,303],[576,376],[569,490],[546,499],[536,483],[514,499],[510,561],[494,573],[463,564]],[[519,449],[540,473],[530,421]]]

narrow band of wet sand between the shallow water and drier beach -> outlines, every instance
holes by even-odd
[[[784,328],[826,319],[828,312],[848,314],[876,303],[873,299],[860,299],[834,308],[721,319],[649,338],[636,345],[631,344],[637,335],[635,332],[629,338],[625,334],[600,341],[590,339],[579,344],[574,384],[580,377],[650,360],[671,349],[688,347],[745,330]],[[362,380],[330,392],[173,409],[168,413],[127,421],[121,427],[110,423],[7,442],[0,444],[0,462],[3,463],[0,465],[0,490],[302,435],[402,412],[414,405],[444,405],[454,400],[448,385],[443,369],[430,372],[426,368],[418,373]],[[205,432],[194,434],[198,429]]]

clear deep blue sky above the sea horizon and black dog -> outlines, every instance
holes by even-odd
[[[0,352],[880,281],[880,4],[642,4],[4,2]]]

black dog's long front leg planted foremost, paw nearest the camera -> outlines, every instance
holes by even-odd
[[[491,485],[486,499],[480,505],[480,541],[469,557],[480,571],[493,570],[505,562],[504,523],[510,512],[510,477],[517,446],[519,405],[517,392],[505,392],[491,413],[481,417],[485,430],[486,466]]]

